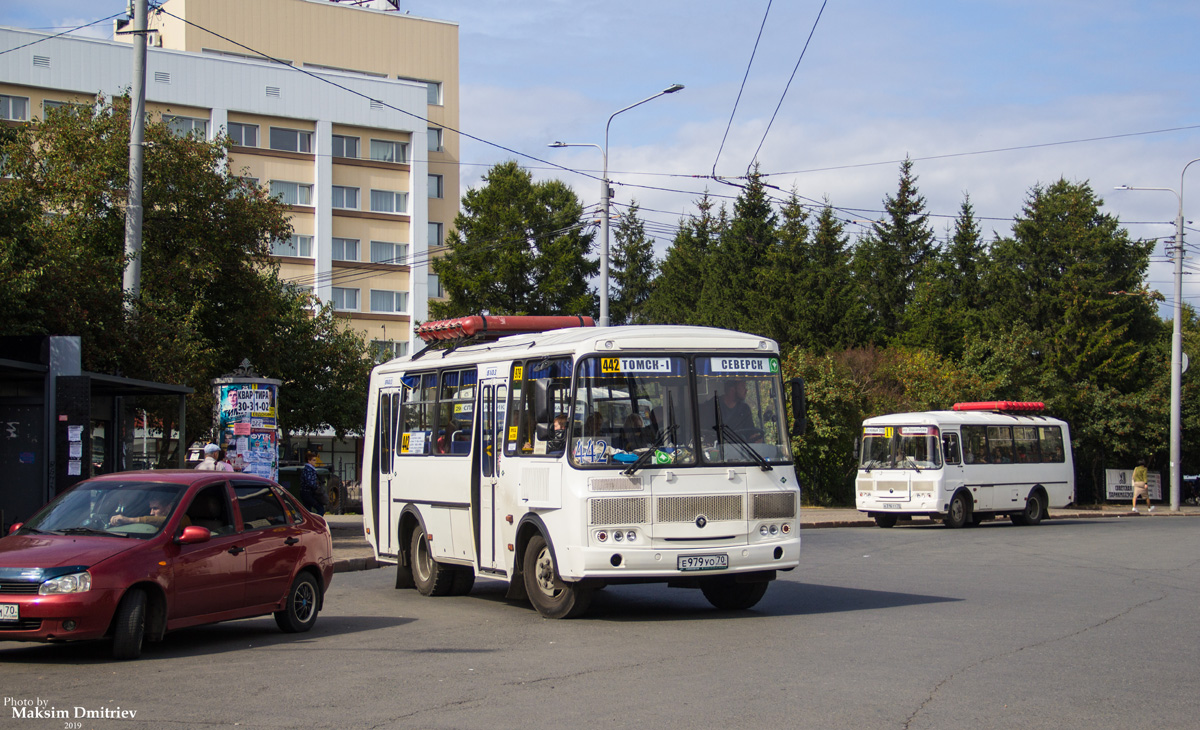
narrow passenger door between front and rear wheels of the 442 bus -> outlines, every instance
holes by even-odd
[[[500,478],[500,453],[504,449],[504,402],[508,387],[503,381],[480,381],[479,427],[479,510],[476,529],[479,539],[479,567],[484,570],[504,569],[503,515],[498,507],[497,491]]]

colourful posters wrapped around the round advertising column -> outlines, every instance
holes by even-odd
[[[217,385],[217,429],[229,463],[239,472],[277,479],[278,385],[223,383]]]

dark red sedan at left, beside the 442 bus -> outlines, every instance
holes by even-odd
[[[112,638],[113,657],[202,623],[317,622],[329,527],[278,484],[151,471],[80,481],[0,539],[0,641]]]

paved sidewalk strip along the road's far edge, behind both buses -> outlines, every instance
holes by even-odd
[[[1166,504],[1157,504],[1154,511],[1146,513],[1146,507],[1139,508],[1141,511],[1132,514],[1128,504],[1105,504],[1093,509],[1051,509],[1050,520],[1096,520],[1096,519],[1121,519],[1121,517],[1180,517],[1200,516],[1200,507],[1183,504],[1180,511],[1172,513]],[[1007,517],[1000,517],[1007,521]],[[344,573],[348,570],[371,570],[380,568],[376,562],[374,552],[362,534],[362,515],[325,515],[329,531],[334,537],[334,572]],[[926,517],[913,517],[913,523],[928,522]],[[904,522],[901,522],[902,525]],[[875,527],[875,520],[868,517],[857,509],[824,509],[820,507],[800,508],[800,528],[814,529],[821,527]]]

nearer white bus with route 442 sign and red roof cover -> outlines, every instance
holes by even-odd
[[[427,323],[422,337],[527,334],[374,369],[364,528],[377,558],[397,564],[397,588],[464,594],[476,575],[494,578],[563,618],[605,585],[667,582],[748,609],[799,564],[779,346],[698,327],[589,325]],[[803,382],[791,393],[803,424]]]

